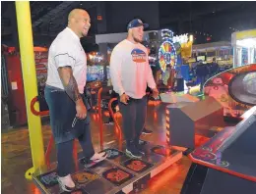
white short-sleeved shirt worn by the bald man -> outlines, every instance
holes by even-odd
[[[65,66],[72,68],[79,92],[83,94],[87,81],[87,56],[80,38],[69,27],[61,31],[50,45],[46,84],[64,89],[58,68]]]

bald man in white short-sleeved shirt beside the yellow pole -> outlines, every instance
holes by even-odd
[[[80,38],[88,34],[91,19],[85,10],[75,9],[68,26],[52,42],[48,53],[48,73],[44,90],[50,111],[50,125],[57,148],[58,181],[64,191],[72,191],[75,183],[72,148],[78,138],[86,168],[104,160],[106,153],[95,152],[92,144],[88,103],[83,95],[87,80],[87,57]]]

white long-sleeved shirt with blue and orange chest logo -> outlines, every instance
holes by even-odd
[[[113,89],[135,99],[146,95],[147,84],[156,88],[145,46],[125,39],[117,44],[110,58],[110,77]]]

